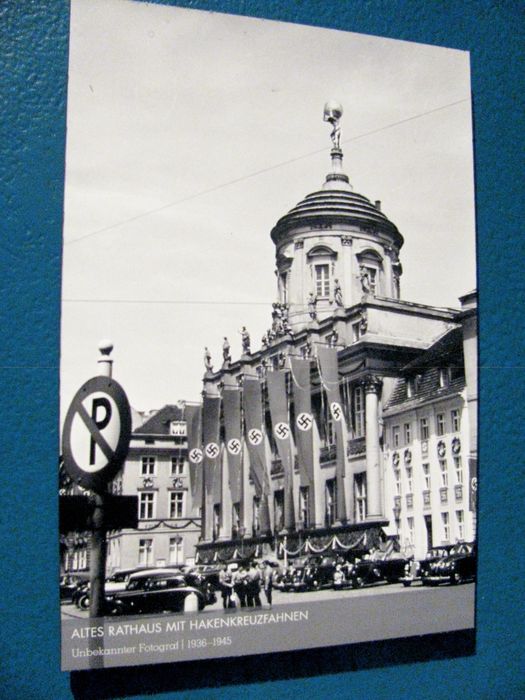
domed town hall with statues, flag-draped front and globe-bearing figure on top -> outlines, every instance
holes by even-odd
[[[392,414],[406,368],[462,321],[458,310],[401,298],[403,236],[379,201],[353,191],[341,115],[327,103],[324,183],[271,231],[271,327],[258,348],[244,329],[238,359],[225,338],[218,371],[207,360],[202,420],[188,437],[202,477],[203,562],[362,554],[404,542],[385,471],[385,409]]]

